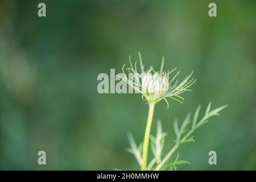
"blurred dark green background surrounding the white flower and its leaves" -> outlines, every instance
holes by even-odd
[[[39,18],[38,3],[47,16]],[[210,2],[217,17],[208,16]],[[209,101],[221,117],[180,148],[178,169],[256,169],[255,1],[0,1],[0,169],[139,169],[127,132],[141,142],[147,105],[139,94],[99,94],[99,73],[138,60],[195,73],[184,104],[162,101],[156,119],[174,142],[173,121]],[[38,151],[47,165],[38,165]],[[217,152],[217,165],[208,152]]]

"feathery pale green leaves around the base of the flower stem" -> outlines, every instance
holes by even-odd
[[[162,152],[164,148],[164,139],[166,138],[167,133],[163,133],[161,122],[157,122],[157,129],[155,137],[151,135],[151,150],[154,154],[154,158],[151,159],[150,163],[148,163],[148,170],[177,170],[177,165],[181,164],[189,164],[189,162],[185,160],[179,160],[179,153],[177,154],[174,161],[170,162],[171,156],[174,152],[179,148],[181,144],[195,142],[194,136],[192,136],[193,132],[198,129],[200,126],[203,126],[208,122],[210,117],[214,115],[219,116],[219,112],[227,107],[221,106],[216,109],[210,110],[211,103],[208,104],[207,109],[205,111],[204,116],[199,119],[200,113],[200,105],[197,107],[193,118],[191,118],[191,113],[185,117],[184,121],[181,123],[179,127],[177,119],[174,121],[174,132],[176,135],[175,145],[171,148],[171,150],[162,158]],[[137,147],[134,142],[133,136],[131,134],[128,135],[129,142],[131,148],[128,151],[135,156],[139,165],[142,164],[142,144]]]

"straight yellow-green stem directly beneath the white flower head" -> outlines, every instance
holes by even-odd
[[[155,104],[149,104],[147,126],[146,126],[144,141],[143,141],[143,153],[142,153],[142,165],[141,165],[142,171],[145,171],[146,167],[147,167],[148,142],[149,142],[149,138],[150,138],[150,129],[151,129],[151,123],[152,123],[152,119],[153,119],[154,106],[155,106]]]

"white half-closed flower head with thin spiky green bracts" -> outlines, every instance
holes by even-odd
[[[133,67],[129,57],[131,66],[130,68],[127,68],[129,78],[127,78],[125,74],[125,65],[123,65],[122,80],[129,84],[137,93],[141,93],[143,100],[146,100],[149,104],[156,104],[163,99],[166,101],[167,106],[169,106],[166,98],[172,98],[173,100],[182,103],[184,98],[181,97],[180,94],[185,91],[192,91],[188,88],[196,81],[194,78],[191,78],[193,72],[189,76],[185,77],[180,83],[177,80],[175,81],[175,78],[180,72],[177,72],[176,75],[170,79],[171,73],[173,73],[176,68],[171,71],[163,72],[164,59],[162,59],[162,65],[159,72],[156,72],[153,68],[150,68],[145,72],[144,65],[142,64],[141,53],[138,54],[141,73],[138,73],[137,71],[137,62],[135,62]],[[174,84],[172,84],[173,82]]]

